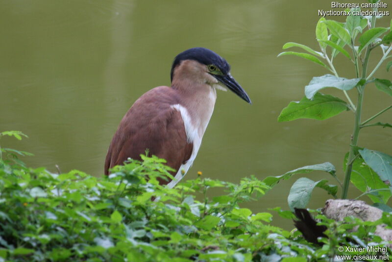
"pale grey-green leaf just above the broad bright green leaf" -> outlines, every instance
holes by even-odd
[[[305,86],[305,95],[308,99],[313,99],[314,95],[323,88],[335,87],[340,90],[350,90],[354,88],[361,79],[345,79],[337,78],[332,75],[324,75],[321,77],[314,77],[310,83]]]

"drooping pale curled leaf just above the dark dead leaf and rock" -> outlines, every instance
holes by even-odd
[[[327,185],[326,179],[314,182],[308,178],[299,178],[292,185],[287,201],[291,210],[294,208],[306,208],[312,196],[313,189],[317,186],[326,189],[328,193],[336,194],[338,188],[336,185]]]

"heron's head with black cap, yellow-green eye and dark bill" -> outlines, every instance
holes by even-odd
[[[186,71],[180,74],[178,70]],[[249,96],[241,85],[231,76],[230,65],[216,52],[196,47],[179,53],[173,61],[171,70],[172,82],[176,78],[197,78],[214,86],[227,87],[239,97],[251,104]]]

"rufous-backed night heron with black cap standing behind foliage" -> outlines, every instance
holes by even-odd
[[[105,160],[109,168],[128,158],[149,154],[167,160],[176,171],[173,187],[192,166],[210,121],[217,98],[216,89],[226,87],[251,104],[248,95],[230,75],[230,65],[206,48],[179,53],[171,70],[172,86],[158,86],[131,106],[113,136]]]

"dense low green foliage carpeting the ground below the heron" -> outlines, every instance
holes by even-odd
[[[336,245],[351,245],[346,236],[385,244],[368,235],[375,222],[337,223],[320,216],[330,226],[323,247],[271,226],[269,212],[240,207],[270,189],[254,177],[239,184],[199,177],[170,189],[158,183],[170,168],[157,157],[130,160],[104,178],[18,163],[0,159],[0,262],[316,262],[344,254]],[[311,170],[335,173],[332,164],[323,163],[286,176]],[[216,188],[226,194],[210,197]],[[292,212],[273,210],[292,223]],[[382,221],[390,225],[392,218],[384,215]],[[360,229],[355,233],[341,230],[355,226]]]

